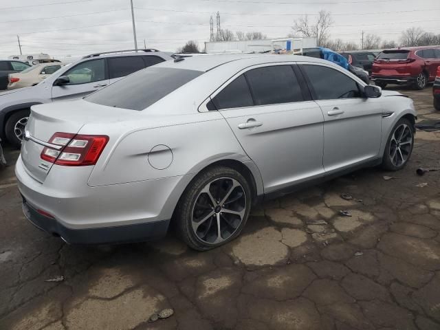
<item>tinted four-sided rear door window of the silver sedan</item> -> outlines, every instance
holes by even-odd
[[[255,105],[303,101],[291,65],[259,67],[245,73]]]

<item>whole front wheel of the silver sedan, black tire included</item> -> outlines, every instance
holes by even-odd
[[[405,167],[414,146],[414,133],[412,123],[406,118],[400,118],[386,142],[382,168],[401,170]]]

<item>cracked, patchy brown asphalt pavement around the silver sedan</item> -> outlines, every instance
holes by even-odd
[[[402,92],[419,120],[440,120],[430,87]],[[0,329],[439,330],[440,171],[415,174],[440,165],[439,143],[440,133],[418,131],[404,170],[359,170],[268,201],[239,239],[203,253],[172,232],[67,245],[25,220],[9,166],[0,171]],[[7,149],[11,165],[18,155]],[[148,322],[164,308],[173,316]]]

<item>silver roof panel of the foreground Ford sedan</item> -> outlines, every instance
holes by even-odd
[[[177,69],[190,69],[201,72],[210,71],[220,65],[227,63],[243,61],[243,65],[263,64],[263,63],[277,63],[277,62],[316,62],[316,63],[330,63],[329,61],[320,58],[300,55],[287,54],[208,54],[206,56],[195,56],[176,58],[175,61],[166,61],[155,65],[156,67],[175,67]]]

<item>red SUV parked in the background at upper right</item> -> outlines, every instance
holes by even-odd
[[[371,80],[377,86],[411,84],[423,89],[434,81],[440,65],[440,47],[402,47],[384,50],[373,63]]]

